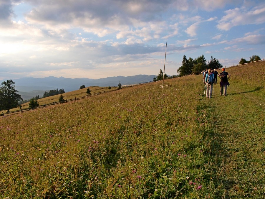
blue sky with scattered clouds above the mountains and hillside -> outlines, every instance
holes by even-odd
[[[177,75],[264,47],[264,0],[0,0],[0,80]]]

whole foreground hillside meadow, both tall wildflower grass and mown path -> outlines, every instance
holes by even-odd
[[[264,66],[1,117],[0,198],[263,198]]]

